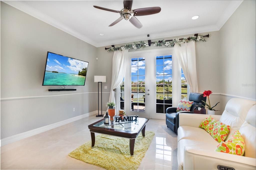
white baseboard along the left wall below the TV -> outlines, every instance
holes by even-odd
[[[27,137],[30,137],[30,136],[33,136],[33,135],[37,135],[37,134],[45,132],[47,130],[51,130],[53,128],[56,128],[56,127],[59,127],[59,126],[62,126],[62,125],[66,125],[66,124],[74,122],[76,120],[79,120],[79,119],[82,119],[82,118],[85,118],[85,117],[88,117],[88,116],[96,115],[96,114],[98,114],[98,110],[90,112],[90,113],[85,113],[83,115],[79,115],[79,116],[76,116],[76,117],[72,117],[72,118],[69,118],[69,119],[66,119],[66,120],[62,120],[60,122],[56,122],[56,123],[46,125],[46,126],[43,126],[43,127],[40,127],[40,128],[29,130],[29,131],[26,131],[26,132],[23,132],[23,133],[19,133],[17,135],[13,135],[13,136],[10,136],[10,137],[4,138],[4,139],[1,139],[0,140],[1,146],[7,145],[9,143],[16,142],[18,140],[21,140],[21,139],[24,139],[24,138],[27,138]]]

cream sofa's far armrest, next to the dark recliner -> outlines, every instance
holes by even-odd
[[[209,115],[180,113],[179,126],[198,127],[207,116]],[[211,115],[211,116],[219,120],[221,115]]]

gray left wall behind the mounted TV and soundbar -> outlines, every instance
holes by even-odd
[[[47,51],[89,62],[85,86],[48,92],[60,87],[42,86]],[[96,92],[96,53],[96,47],[1,2],[1,99]],[[95,111],[96,100],[96,93],[1,100],[1,139]]]

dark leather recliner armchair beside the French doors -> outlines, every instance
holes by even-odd
[[[178,134],[179,113],[194,113],[194,108],[196,107],[196,104],[201,102],[202,106],[205,106],[202,101],[206,102],[206,97],[203,97],[202,93],[190,93],[188,100],[193,101],[190,112],[176,112],[177,107],[168,107],[166,109],[166,125],[176,134]]]

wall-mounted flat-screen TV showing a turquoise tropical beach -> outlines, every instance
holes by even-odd
[[[88,62],[48,52],[43,86],[84,86]]]

